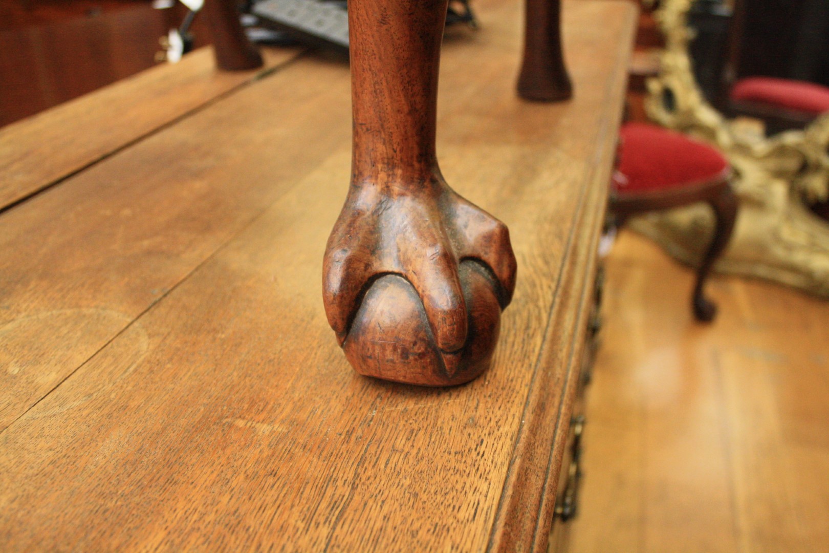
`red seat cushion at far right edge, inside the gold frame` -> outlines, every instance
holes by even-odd
[[[749,77],[738,80],[730,96],[735,101],[771,104],[808,114],[829,111],[829,87],[802,80]]]

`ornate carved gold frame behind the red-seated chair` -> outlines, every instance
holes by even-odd
[[[734,167],[739,215],[716,269],[789,284],[829,297],[829,224],[804,205],[829,197],[829,114],[803,131],[747,133],[704,98],[691,70],[686,25],[691,0],[662,0],[654,13],[666,39],[645,109],[657,124],[701,138]],[[652,212],[631,226],[676,259],[698,264],[714,218],[705,206]]]

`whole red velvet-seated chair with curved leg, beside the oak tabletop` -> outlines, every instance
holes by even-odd
[[[697,320],[709,322],[716,306],[703,287],[734,229],[737,200],[731,167],[714,148],[652,124],[628,123],[620,131],[618,168],[613,174],[610,209],[621,226],[628,216],[671,209],[698,201],[714,210],[715,228],[697,269],[691,306]]]

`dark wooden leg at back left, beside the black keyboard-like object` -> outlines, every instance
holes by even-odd
[[[239,22],[238,0],[206,0],[204,12],[213,36],[216,65],[220,69],[238,71],[262,65],[262,56]]]

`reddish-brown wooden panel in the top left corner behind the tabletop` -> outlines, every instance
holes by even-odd
[[[149,2],[101,2],[88,17],[93,2],[18,2],[0,2],[0,126],[152,67],[158,38],[181,22]]]

